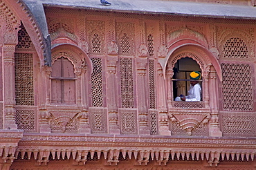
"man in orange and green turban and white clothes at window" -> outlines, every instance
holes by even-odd
[[[199,102],[201,101],[201,86],[199,84],[199,79],[201,79],[201,73],[198,71],[193,71],[190,73],[190,90],[188,95],[180,95],[175,98],[175,101],[185,101],[185,102]]]

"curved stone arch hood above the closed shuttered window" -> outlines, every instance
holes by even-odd
[[[91,59],[86,55],[84,50],[78,46],[75,46],[74,44],[54,44],[52,46],[52,53],[52,62],[54,62],[58,57],[61,57],[61,53],[62,56],[67,57],[72,62],[75,66],[75,70],[83,68],[85,66],[84,62],[86,62],[89,68],[89,75],[91,75],[93,70]]]

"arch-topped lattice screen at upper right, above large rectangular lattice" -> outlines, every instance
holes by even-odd
[[[232,37],[223,46],[223,57],[226,58],[248,58],[246,43],[239,37]]]

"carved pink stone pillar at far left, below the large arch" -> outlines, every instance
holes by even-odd
[[[3,46],[4,129],[17,129],[15,123],[15,45]]]

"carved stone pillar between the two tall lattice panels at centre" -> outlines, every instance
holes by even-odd
[[[114,42],[113,42],[114,43]],[[113,44],[113,46],[115,46]],[[117,47],[117,46],[116,46]],[[116,48],[109,48],[109,55],[117,54]],[[116,77],[117,55],[107,57],[107,105],[109,108],[109,133],[120,134],[118,126],[118,85]]]

